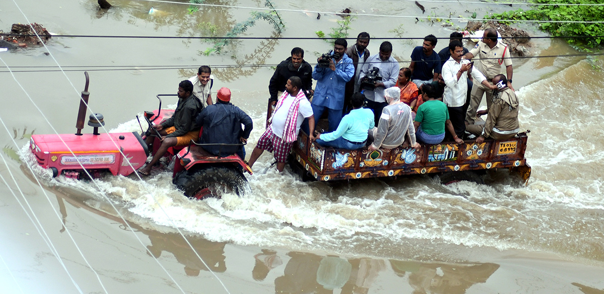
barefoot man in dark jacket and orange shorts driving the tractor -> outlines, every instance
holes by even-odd
[[[162,137],[161,145],[149,164],[138,170],[141,175],[149,175],[153,164],[164,156],[168,148],[173,146],[187,146],[191,140],[199,139],[199,125],[194,121],[202,110],[203,104],[193,95],[193,83],[188,80],[178,84],[178,104],[174,114],[159,125],[153,125]],[[154,138],[146,139],[147,145],[153,143]]]

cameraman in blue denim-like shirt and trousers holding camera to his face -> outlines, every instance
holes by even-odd
[[[342,119],[344,108],[344,87],[355,75],[352,59],[344,53],[348,43],[345,39],[336,39],[333,51],[323,54],[316,61],[312,78],[316,80],[315,95],[312,99],[312,111],[315,122],[327,109],[329,131],[335,131]]]

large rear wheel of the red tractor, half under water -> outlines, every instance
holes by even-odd
[[[241,196],[249,189],[248,180],[233,166],[204,166],[182,170],[172,181],[188,198],[220,198],[224,193]]]

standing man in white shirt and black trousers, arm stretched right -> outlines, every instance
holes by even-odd
[[[442,68],[443,80],[445,80],[445,94],[443,102],[449,110],[449,117],[455,134],[458,137],[463,137],[466,131],[466,111],[463,109],[463,104],[466,102],[467,95],[467,73],[471,73],[474,77],[475,84],[483,84],[487,89],[496,89],[484,75],[478,70],[472,70],[472,63],[469,60],[462,59],[463,44],[458,40],[449,43],[449,51],[451,57],[445,62]]]

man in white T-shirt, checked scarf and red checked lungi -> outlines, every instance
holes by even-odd
[[[277,160],[277,170],[283,172],[285,161],[292,151],[294,142],[298,139],[300,126],[304,117],[308,118],[310,128],[310,139],[314,139],[315,117],[312,114],[310,102],[306,99],[301,90],[302,80],[298,77],[291,77],[285,85],[286,92],[281,95],[275,106],[275,110],[269,119],[266,131],[256,144],[252,155],[249,157],[249,167],[252,167],[256,160],[265,150],[273,152]]]

